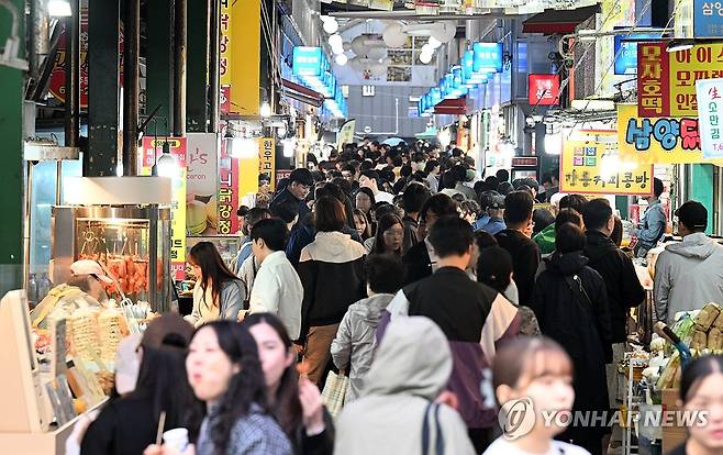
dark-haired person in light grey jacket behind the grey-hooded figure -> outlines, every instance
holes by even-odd
[[[374,357],[375,333],[381,312],[404,282],[404,266],[394,255],[369,256],[365,265],[368,298],[352,304],[332,342],[331,354],[340,369],[347,369],[349,386],[345,402],[359,397],[364,377]],[[354,359],[354,362],[351,362]]]

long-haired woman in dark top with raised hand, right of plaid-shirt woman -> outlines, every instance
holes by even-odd
[[[297,455],[331,455],[334,424],[326,413],[316,386],[299,378],[297,351],[281,321],[274,314],[258,313],[244,319],[258,346],[266,377],[271,414],[289,436]]]

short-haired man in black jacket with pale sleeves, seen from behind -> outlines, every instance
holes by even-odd
[[[491,441],[496,419],[478,385],[494,358],[496,345],[518,334],[520,319],[504,297],[467,275],[475,242],[469,223],[443,217],[432,228],[430,241],[440,258],[437,270],[397,293],[379,331],[383,334],[389,319],[407,314],[424,315],[440,325],[455,354],[449,391],[457,396],[459,413],[475,448],[481,452]]]

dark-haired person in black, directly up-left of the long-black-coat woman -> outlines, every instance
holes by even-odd
[[[540,248],[526,232],[532,224],[533,200],[526,191],[512,191],[504,198],[507,229],[497,233],[497,242],[512,256],[514,281],[520,291],[520,304],[530,307],[535,273],[540,265]]]

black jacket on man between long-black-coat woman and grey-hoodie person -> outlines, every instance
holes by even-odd
[[[645,289],[635,273],[633,260],[600,231],[588,231],[585,255],[588,266],[602,276],[608,290],[612,342],[627,340],[627,313],[645,300]]]

